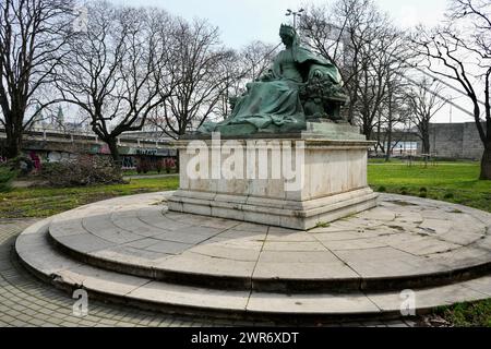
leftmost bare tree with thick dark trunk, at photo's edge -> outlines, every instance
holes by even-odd
[[[68,52],[72,9],[71,0],[0,1],[0,123],[8,158],[19,155],[24,130],[55,103],[46,98],[47,85]]]

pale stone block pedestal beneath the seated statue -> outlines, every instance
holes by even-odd
[[[169,209],[304,230],[372,208],[371,143],[351,131],[313,123],[299,134],[181,140]]]

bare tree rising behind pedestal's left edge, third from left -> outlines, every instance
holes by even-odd
[[[188,23],[176,19],[172,45],[176,56],[168,68],[171,83],[161,86],[170,97],[152,122],[170,137],[178,139],[200,128],[216,111],[233,81],[229,68],[235,52],[221,47],[218,28],[202,20]]]

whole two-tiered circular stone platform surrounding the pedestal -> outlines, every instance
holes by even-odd
[[[16,242],[59,287],[148,308],[226,315],[396,314],[491,298],[491,214],[382,194],[376,208],[309,231],[168,212],[171,192],[104,201]]]

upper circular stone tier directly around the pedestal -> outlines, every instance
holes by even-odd
[[[163,197],[135,195],[61,214],[49,238],[97,268],[237,291],[388,291],[491,270],[491,215],[468,207],[384,194],[372,210],[299,231],[169,213],[154,205]]]

